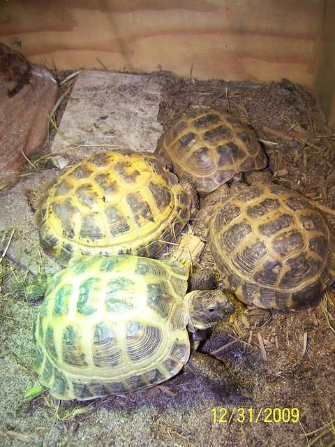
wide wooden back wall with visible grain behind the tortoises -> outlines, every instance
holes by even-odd
[[[321,0],[2,1],[0,41],[49,67],[313,87]],[[42,6],[43,5],[43,6]]]

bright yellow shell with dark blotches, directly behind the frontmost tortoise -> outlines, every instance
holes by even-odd
[[[152,154],[102,152],[60,175],[39,200],[40,244],[74,256],[156,256],[180,233],[191,198]]]

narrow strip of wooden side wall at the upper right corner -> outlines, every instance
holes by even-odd
[[[316,90],[328,124],[335,126],[335,2],[325,1],[319,41]]]

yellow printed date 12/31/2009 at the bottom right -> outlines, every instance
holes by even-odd
[[[211,409],[213,422],[215,424],[230,424],[237,422],[245,423],[299,423],[299,409],[292,408],[271,408],[261,406],[258,409],[252,406],[244,408],[243,406],[233,406],[231,409],[225,406],[218,406]]]

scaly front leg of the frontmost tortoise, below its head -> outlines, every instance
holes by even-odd
[[[218,391],[221,395],[240,395],[234,376],[228,372],[223,362],[208,354],[192,352],[185,366],[194,375],[200,375],[206,379],[209,387]]]

